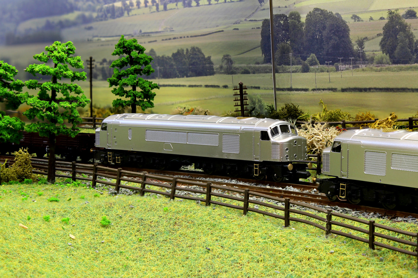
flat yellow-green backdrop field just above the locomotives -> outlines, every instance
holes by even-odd
[[[407,87],[418,88],[416,72],[364,72],[343,71],[331,72],[331,83],[328,73],[316,74],[317,88],[347,88],[347,87]],[[153,80],[158,84],[182,85],[228,85],[224,88],[189,88],[189,87],[161,87],[156,90],[155,107],[148,113],[173,113],[176,107],[197,107],[209,109],[212,115],[224,115],[234,111],[234,86],[242,81],[247,86],[260,86],[264,90],[247,90],[249,95],[259,94],[267,104],[273,103],[273,82],[268,74],[257,75],[214,75],[206,77],[189,77],[176,79]],[[290,74],[277,74],[277,86],[290,87]],[[293,88],[315,88],[314,73],[292,74]],[[89,84],[84,82],[82,88],[89,96]],[[93,103],[97,106],[110,106],[115,95],[110,92],[105,81],[94,82]],[[284,103],[299,105],[303,111],[311,114],[320,112],[319,100],[322,99],[328,108],[341,108],[355,115],[359,111],[371,111],[377,118],[385,118],[395,112],[400,118],[414,116],[418,111],[418,93],[341,93],[330,91],[317,92],[277,92],[278,107]]]

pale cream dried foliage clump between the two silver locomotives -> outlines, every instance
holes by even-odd
[[[306,138],[309,154],[321,154],[326,147],[332,145],[339,133],[336,127],[322,124],[308,124],[306,129],[298,129],[298,134]]]

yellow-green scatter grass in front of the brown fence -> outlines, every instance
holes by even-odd
[[[18,186],[7,185],[12,192],[0,199],[1,277],[417,275],[414,257],[369,250],[343,237],[326,239],[304,224],[291,222],[283,228],[283,221],[260,214],[242,216],[242,211],[177,199],[94,198],[95,190],[56,185],[28,186],[29,194],[42,190],[44,195],[33,194],[36,202],[20,201]],[[72,199],[46,201],[57,194]],[[77,200],[80,194],[89,203]],[[50,215],[50,221],[43,221],[43,215]],[[102,216],[112,222],[109,227],[100,225]],[[63,217],[75,226],[63,225]],[[402,223],[396,227],[416,229]]]

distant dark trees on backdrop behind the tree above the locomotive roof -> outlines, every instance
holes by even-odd
[[[177,78],[214,75],[214,64],[210,56],[206,57],[199,47],[192,46],[190,49],[177,49],[171,56],[158,56],[154,49],[150,49],[147,55],[153,57],[152,67],[154,72],[150,73],[149,79]],[[95,78],[101,77],[107,80],[113,75],[110,68],[112,60],[102,59],[98,63]]]

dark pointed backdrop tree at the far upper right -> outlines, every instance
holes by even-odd
[[[380,49],[383,53],[389,55],[393,63],[405,62],[405,59],[410,55],[401,55],[400,49],[411,53],[415,50],[415,36],[411,31],[411,26],[399,15],[398,9],[394,11],[389,10],[387,12],[387,19],[387,23],[383,26],[383,36],[379,43]],[[400,43],[402,45],[398,48]],[[395,54],[397,48],[398,52]]]

